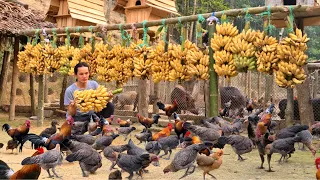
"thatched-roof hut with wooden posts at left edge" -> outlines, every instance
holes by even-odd
[[[9,120],[13,120],[16,105],[18,108],[21,107],[20,110],[23,109],[23,106],[30,107],[30,104],[26,104],[26,100],[30,101],[28,80],[24,78],[20,79],[19,77],[20,82],[18,81],[17,55],[19,44],[26,43],[26,38],[20,36],[19,33],[25,29],[53,28],[55,25],[45,22],[44,15],[28,9],[27,5],[18,1],[8,2],[0,0],[0,9],[2,10],[0,11],[0,42],[2,44],[0,51],[3,51],[2,71],[0,74],[0,99],[2,109],[10,110]],[[12,46],[14,52],[13,58],[10,58]],[[10,59],[13,59],[12,66],[10,66]],[[11,88],[5,88],[5,86],[11,86]],[[30,108],[28,112],[30,112]]]

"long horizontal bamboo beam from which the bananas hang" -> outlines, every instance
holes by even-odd
[[[281,13],[281,12],[288,12],[289,6],[272,6],[270,7],[271,13]],[[308,10],[308,8],[312,8],[312,6],[301,6],[301,5],[296,5],[292,6],[293,12],[305,12]],[[253,8],[248,8],[248,13],[249,14],[260,14],[262,12],[266,12],[268,10],[267,6],[262,6],[262,7],[253,7]],[[231,10],[226,10],[226,11],[218,11],[215,12],[214,15],[216,17],[221,17],[223,14],[227,16],[232,16],[236,17],[239,15],[245,15],[247,13],[246,9],[231,9]],[[209,18],[212,16],[212,13],[206,13],[202,14],[204,18]],[[198,20],[198,15],[192,15],[192,16],[181,16],[180,17],[181,22],[192,22],[192,21],[197,21]],[[166,24],[177,24],[179,23],[179,18],[168,18],[165,19]],[[129,23],[129,24],[123,24],[122,28],[123,29],[132,29],[132,26],[135,26],[136,28],[142,28],[143,24],[142,23]],[[159,26],[162,25],[162,20],[154,20],[154,21],[148,21],[146,23],[146,27],[152,27],[152,26]],[[90,32],[90,26],[81,26],[79,27],[79,31],[77,31],[78,27],[70,27],[68,28],[69,33],[76,33],[76,32]],[[98,25],[98,26],[92,26],[92,31],[93,32],[101,32],[103,29],[112,31],[112,30],[119,30],[119,24],[106,24],[106,25]],[[52,31],[55,28],[52,29],[45,29],[45,32],[47,34],[52,34]],[[30,30],[24,30],[20,31],[20,35],[25,35],[25,36],[33,36],[35,34],[37,29],[30,29]],[[66,33],[65,28],[56,28],[55,29],[57,34],[59,33]],[[39,31],[41,32],[41,31]]]

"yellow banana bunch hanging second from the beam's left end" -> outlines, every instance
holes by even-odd
[[[52,75],[56,70],[60,69],[60,52],[51,44],[45,44],[42,53],[44,56],[45,73],[50,73]]]

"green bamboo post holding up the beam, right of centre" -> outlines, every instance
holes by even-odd
[[[209,24],[209,39],[213,37],[213,33],[216,31],[216,23]],[[209,43],[210,44],[210,43]],[[217,116],[218,115],[218,75],[213,69],[214,59],[213,59],[213,49],[209,47],[209,89],[210,89],[210,111],[209,116]]]

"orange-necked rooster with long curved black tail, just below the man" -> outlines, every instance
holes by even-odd
[[[41,137],[36,134],[26,135],[22,140],[20,151],[22,151],[22,146],[27,141],[31,141],[34,148],[44,146],[47,150],[54,149],[57,144],[63,143],[64,140],[68,139],[71,136],[71,129],[73,123],[74,119],[71,116],[69,116],[67,120],[62,124],[60,132],[50,137]]]

